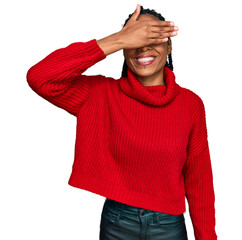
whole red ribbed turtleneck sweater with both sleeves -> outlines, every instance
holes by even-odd
[[[83,74],[104,58],[96,39],[75,42],[27,72],[38,95],[77,118],[69,185],[175,215],[186,197],[196,240],[217,239],[203,101],[167,67],[157,86],[129,69],[120,79]]]

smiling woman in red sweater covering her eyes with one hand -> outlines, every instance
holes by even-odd
[[[68,183],[106,197],[102,240],[187,239],[185,197],[196,240],[217,239],[205,108],[175,81],[177,30],[137,5],[121,31],[58,49],[27,73],[37,94],[77,117]],[[120,79],[83,74],[121,49]]]

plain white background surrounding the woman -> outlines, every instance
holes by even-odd
[[[26,73],[58,48],[120,31],[137,3],[179,27],[172,37],[174,73],[205,104],[216,232],[220,240],[241,238],[239,1],[22,0],[0,5],[0,239],[98,239],[105,198],[67,184],[76,118],[33,92]],[[119,78],[122,64],[118,51],[85,74]],[[185,220],[192,240],[188,211]]]

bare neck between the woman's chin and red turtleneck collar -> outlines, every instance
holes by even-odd
[[[164,68],[162,68],[159,72],[156,72],[155,74],[150,76],[136,75],[136,77],[144,86],[166,85],[164,81],[163,69]]]

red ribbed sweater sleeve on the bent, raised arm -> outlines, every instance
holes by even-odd
[[[102,75],[82,73],[104,58],[96,39],[74,42],[33,65],[27,72],[27,82],[38,95],[76,116],[88,98],[89,80],[104,79]]]

